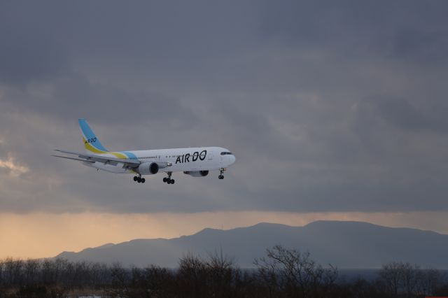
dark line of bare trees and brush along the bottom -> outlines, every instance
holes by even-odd
[[[6,297],[426,297],[448,296],[442,271],[403,262],[384,264],[376,279],[344,281],[309,253],[274,246],[239,269],[222,253],[187,254],[179,267],[123,267],[67,260],[0,260],[0,298]]]

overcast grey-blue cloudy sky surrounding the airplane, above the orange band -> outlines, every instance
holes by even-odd
[[[0,216],[393,213],[426,227],[437,212],[437,229],[448,215],[447,10],[1,1]],[[82,152],[78,118],[110,150],[222,146],[237,162],[224,180],[136,184],[50,157]]]

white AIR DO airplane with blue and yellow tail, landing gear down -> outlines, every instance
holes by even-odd
[[[167,174],[163,182],[174,184],[172,173],[183,172],[192,177],[205,177],[209,171],[219,170],[219,179],[224,179],[224,171],[235,162],[235,155],[230,150],[221,147],[174,148],[137,151],[109,151],[102,146],[98,137],[87,123],[78,120],[83,134],[86,153],[66,150],[55,150],[65,155],[52,155],[82,162],[97,170],[111,173],[133,173],[133,180],[145,183],[144,175],[155,175],[160,171]]]

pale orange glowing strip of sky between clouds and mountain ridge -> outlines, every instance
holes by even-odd
[[[175,238],[205,227],[232,229],[258,222],[302,226],[315,220],[357,220],[448,234],[446,213],[0,213],[0,258],[54,257],[105,243]],[[421,219],[425,218],[426,221]],[[445,221],[446,222],[446,221]]]

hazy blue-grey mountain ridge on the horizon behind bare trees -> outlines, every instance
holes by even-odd
[[[419,229],[391,228],[366,222],[317,221],[304,227],[260,223],[237,229],[203,229],[174,239],[136,239],[87,248],[57,257],[71,261],[120,262],[123,265],[177,267],[186,253],[207,255],[222,249],[240,267],[253,267],[253,259],[266,248],[281,244],[309,251],[321,264],[339,268],[377,268],[391,261],[448,269],[448,235]]]

